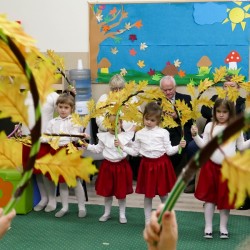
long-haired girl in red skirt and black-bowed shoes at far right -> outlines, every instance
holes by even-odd
[[[204,147],[214,136],[222,132],[228,122],[234,118],[234,103],[226,99],[217,99],[213,107],[213,121],[208,123],[204,129],[203,138],[198,135],[196,126],[192,126],[191,133],[196,144],[201,148]],[[230,141],[225,145],[221,145],[217,149],[210,160],[201,168],[198,185],[195,191],[195,197],[205,202],[205,231],[204,237],[213,238],[213,214],[215,205],[220,210],[220,238],[228,239],[227,222],[230,209],[234,208],[233,204],[229,204],[227,181],[222,181],[221,164],[225,156],[233,156],[238,150],[242,150],[250,145],[250,141],[244,142],[243,134],[234,141]]]

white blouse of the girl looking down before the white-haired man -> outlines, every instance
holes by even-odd
[[[153,129],[144,127],[135,134],[132,147],[124,147],[124,151],[132,156],[142,155],[148,158],[159,158],[167,153],[174,155],[179,146],[172,146],[169,132],[158,126]]]

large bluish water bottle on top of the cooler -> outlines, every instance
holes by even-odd
[[[77,69],[69,71],[69,78],[76,88],[76,102],[88,101],[91,98],[90,70],[83,69],[82,60],[78,60]]]

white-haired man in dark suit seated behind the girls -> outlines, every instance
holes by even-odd
[[[160,80],[160,89],[165,94],[166,98],[169,101],[171,101],[173,104],[175,103],[176,100],[180,100],[180,101],[184,100],[188,106],[191,106],[190,104],[191,96],[176,92],[176,82],[172,76],[164,76]],[[184,139],[186,140],[187,145],[188,145],[188,143],[192,140],[192,135],[191,135],[192,121],[189,120],[184,125],[184,134],[182,134],[180,118],[178,117],[177,112],[175,111],[171,113],[170,115],[179,124],[179,126],[175,128],[166,127],[166,129],[168,130],[170,134],[170,141],[171,141],[172,146],[178,145],[180,143],[180,140],[182,139],[182,136],[184,136]],[[175,174],[178,176],[181,173],[182,168],[185,167],[187,163],[186,149],[183,149],[181,154],[170,156],[170,159],[173,164]]]

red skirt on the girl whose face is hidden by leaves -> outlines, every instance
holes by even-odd
[[[119,162],[103,160],[95,183],[98,195],[125,199],[133,193],[133,174],[127,159]]]

